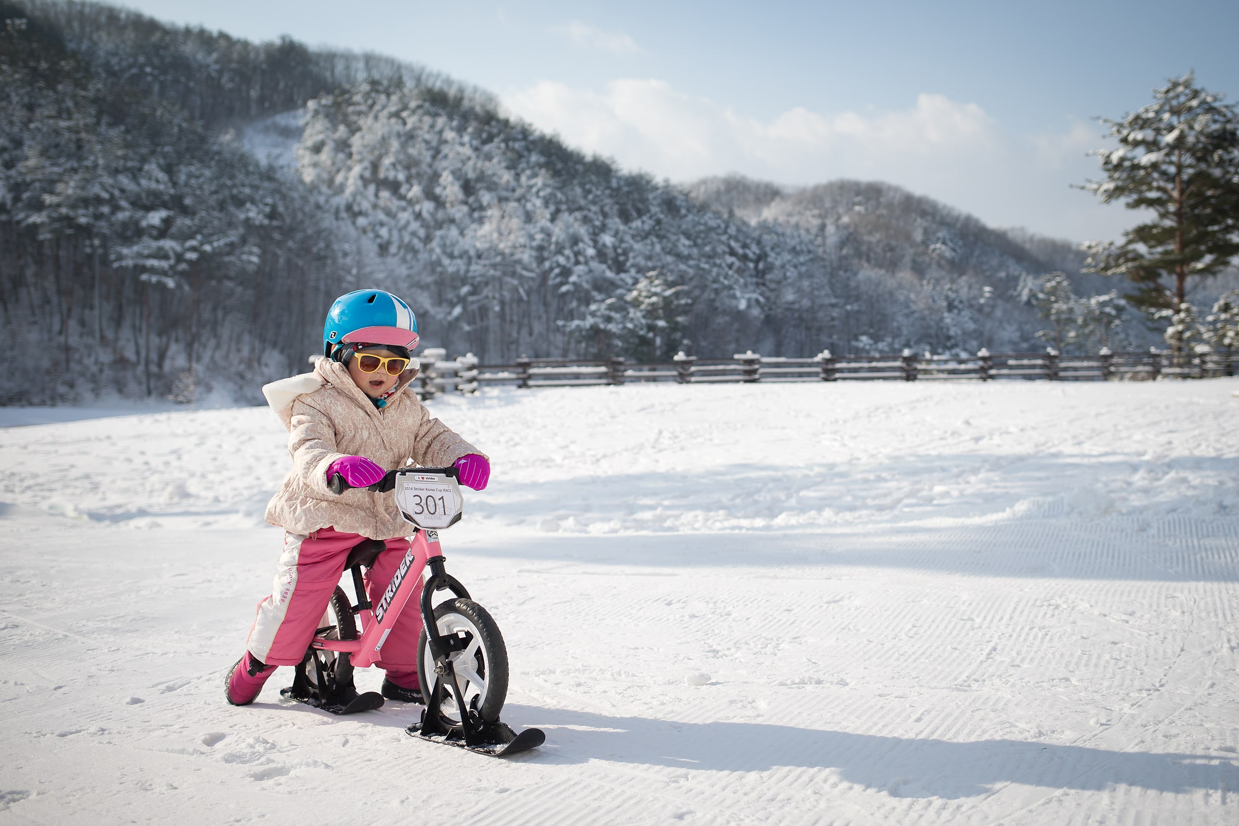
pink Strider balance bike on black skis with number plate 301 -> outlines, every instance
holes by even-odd
[[[399,468],[369,485],[369,490],[395,492],[400,513],[415,529],[411,546],[377,606],[366,596],[362,568],[370,567],[387,545],[367,539],[349,551],[344,570],[352,573],[357,604],[336,586],[322,627],[296,666],[292,686],[280,693],[336,715],[380,707],[383,696],[378,692],[357,692],[353,669],[368,667],[379,659],[383,643],[429,570],[421,587],[422,630],[418,644],[418,677],[426,707],[421,721],[405,731],[493,757],[514,754],[541,746],[546,736],[538,728],[518,734],[499,721],[508,693],[503,634],[489,612],[473,602],[444,566],[439,531],[460,521],[463,505],[456,476],[456,468]],[[349,485],[335,474],[331,488],[338,495]],[[432,606],[439,591],[450,591],[453,598]]]

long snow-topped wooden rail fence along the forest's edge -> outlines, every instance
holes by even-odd
[[[752,350],[731,359],[699,359],[680,353],[670,363],[638,364],[622,358],[530,359],[515,364],[478,364],[472,355],[447,360],[442,349],[421,354],[419,395],[476,393],[481,386],[571,388],[589,385],[675,381],[937,381],[943,379],[992,381],[1021,379],[1051,381],[1203,379],[1235,375],[1239,353],[1182,355],[1150,349],[1147,353],[1062,355],[1052,348],[1041,353],[990,353],[930,355],[903,350],[900,355],[831,355],[813,358],[760,355]]]

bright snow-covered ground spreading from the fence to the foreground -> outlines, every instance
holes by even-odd
[[[0,824],[1239,822],[1235,380],[496,390],[444,535],[535,753],[223,702],[265,409],[0,430]],[[361,674],[363,687],[382,675]]]

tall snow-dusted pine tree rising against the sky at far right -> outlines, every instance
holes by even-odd
[[[1103,203],[1149,209],[1152,220],[1123,241],[1094,244],[1089,269],[1123,275],[1129,298],[1150,315],[1173,317],[1192,284],[1215,275],[1239,253],[1239,115],[1196,84],[1192,73],[1154,92],[1154,103],[1123,120],[1101,119],[1119,149],[1097,150],[1105,181],[1083,188]],[[1181,337],[1168,336],[1178,347]]]

